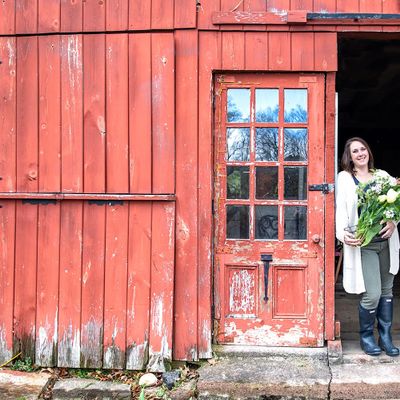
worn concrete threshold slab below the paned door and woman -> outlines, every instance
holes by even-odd
[[[214,365],[199,370],[198,398],[400,399],[399,357],[367,356],[358,342],[340,348],[330,358],[328,347],[216,346]]]

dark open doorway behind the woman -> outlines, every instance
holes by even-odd
[[[400,35],[347,34],[339,36],[338,171],[344,143],[353,136],[371,146],[375,166],[400,176]],[[336,282],[336,320],[341,323],[343,344],[358,341],[358,295],[349,295]],[[395,278],[394,330],[400,345],[400,277]]]

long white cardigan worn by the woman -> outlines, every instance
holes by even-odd
[[[346,171],[338,174],[336,179],[336,237],[344,241],[344,228],[357,225],[357,185]],[[396,275],[399,270],[399,233],[397,229],[389,239],[390,269]],[[365,292],[361,268],[361,248],[343,243],[343,287],[347,293]]]

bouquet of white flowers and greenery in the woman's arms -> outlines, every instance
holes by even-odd
[[[385,222],[400,220],[400,181],[376,170],[372,181],[358,185],[357,195],[361,214],[356,237],[366,246]]]

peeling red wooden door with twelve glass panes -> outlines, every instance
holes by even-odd
[[[324,76],[220,75],[215,92],[217,341],[320,346]]]

